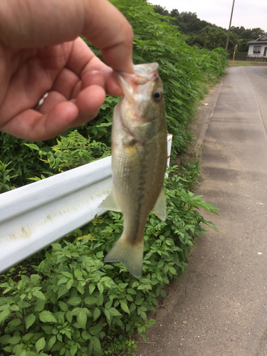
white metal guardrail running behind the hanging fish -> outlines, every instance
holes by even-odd
[[[106,157],[0,194],[0,272],[105,213],[98,206],[111,191]]]

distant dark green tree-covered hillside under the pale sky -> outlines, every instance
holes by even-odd
[[[225,48],[227,29],[214,25],[208,21],[201,20],[195,12],[181,12],[177,9],[167,11],[160,5],[154,6],[154,11],[162,16],[171,16],[174,19],[166,18],[166,21],[178,26],[178,31],[184,33],[185,41],[189,46],[198,46],[212,50],[214,48]],[[248,41],[255,40],[265,31],[261,28],[231,27],[229,37],[229,53],[232,53],[234,46],[239,45],[239,52],[248,51]]]

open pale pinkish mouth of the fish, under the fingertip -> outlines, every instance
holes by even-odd
[[[115,75],[120,82],[123,94],[128,98],[136,92],[138,85],[144,85],[158,77],[158,63],[143,63],[134,66],[135,74],[119,72],[115,70]]]

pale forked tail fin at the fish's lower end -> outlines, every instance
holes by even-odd
[[[143,251],[144,240],[138,244],[130,244],[129,240],[122,234],[120,239],[118,239],[116,244],[111,248],[108,255],[105,256],[104,261],[122,262],[132,276],[140,278],[143,268]]]

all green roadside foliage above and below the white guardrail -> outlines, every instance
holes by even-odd
[[[162,21],[142,0],[114,1],[135,31],[134,62],[159,63],[164,83],[172,155],[192,142],[186,127],[208,85],[224,75],[226,53],[190,47],[177,27]],[[100,56],[100,51],[93,48]],[[96,120],[46,142],[26,142],[1,132],[0,192],[110,154],[112,111],[119,98],[108,97]],[[193,167],[194,166],[194,167]],[[145,338],[154,320],[157,297],[187,266],[194,239],[215,228],[199,207],[214,206],[189,192],[197,184],[197,165],[172,167],[165,180],[167,220],[150,214],[145,229],[142,278],[132,277],[122,263],[105,264],[103,256],[122,233],[122,214],[105,216],[74,231],[1,276],[0,356],[119,355],[135,353],[129,339]]]

